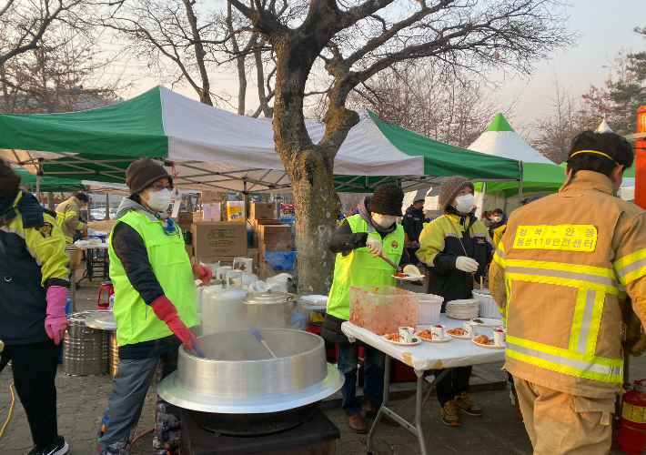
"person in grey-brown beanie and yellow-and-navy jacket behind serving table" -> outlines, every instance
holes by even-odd
[[[484,277],[493,257],[493,243],[487,227],[474,216],[474,187],[465,177],[446,179],[439,187],[439,205],[444,215],[432,220],[419,236],[419,260],[429,268],[429,294],[447,302],[472,298],[473,280]],[[441,369],[434,372],[438,377]],[[437,385],[441,420],[459,426],[458,410],[481,416],[482,409],[469,398],[471,367],[452,369]]]

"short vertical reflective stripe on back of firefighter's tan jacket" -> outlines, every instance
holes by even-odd
[[[601,326],[604,301],[605,294],[603,292],[579,289],[568,349],[581,354],[594,355]]]

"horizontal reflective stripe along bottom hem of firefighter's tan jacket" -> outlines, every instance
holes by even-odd
[[[623,382],[623,359],[605,359],[555,348],[526,339],[507,337],[505,354],[544,369],[578,378]]]

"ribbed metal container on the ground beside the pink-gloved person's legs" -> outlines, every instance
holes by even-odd
[[[85,319],[94,311],[77,311],[67,315],[69,327],[63,339],[61,373],[69,376],[107,374],[109,367],[109,332],[86,327]]]

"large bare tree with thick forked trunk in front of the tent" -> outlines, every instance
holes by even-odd
[[[570,43],[560,0],[311,0],[287,22],[262,0],[229,1],[276,52],[274,140],[294,191],[298,289],[307,293],[325,293],[331,284],[334,258],[327,242],[340,207],[332,174],[338,148],[358,123],[358,114],[346,107],[352,90],[379,71],[419,58],[530,73],[533,62]],[[314,144],[303,100],[318,59],[330,86],[326,132]]]

